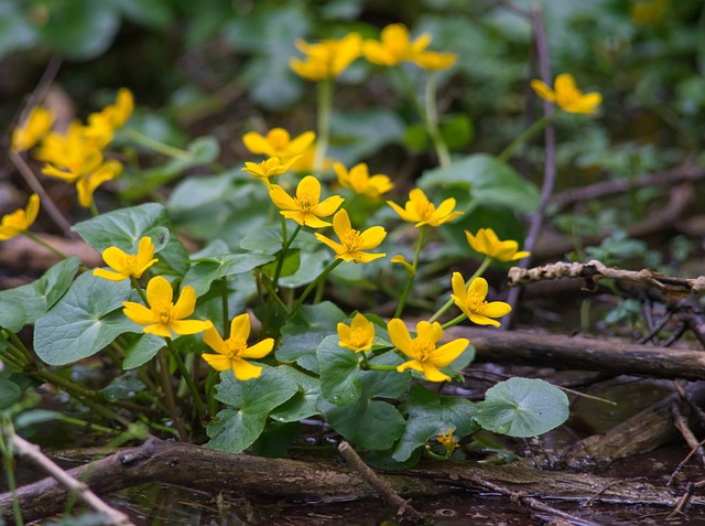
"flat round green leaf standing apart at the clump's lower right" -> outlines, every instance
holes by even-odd
[[[542,379],[500,382],[477,404],[475,419],[482,428],[510,437],[535,437],[568,418],[568,397]]]

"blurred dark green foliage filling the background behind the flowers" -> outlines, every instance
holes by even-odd
[[[293,135],[315,128],[314,86],[289,67],[299,55],[296,39],[349,31],[377,37],[393,22],[406,24],[413,35],[430,32],[432,49],[459,58],[440,75],[438,109],[452,152],[467,160],[498,153],[542,115],[542,101],[529,87],[539,77],[531,24],[511,9],[533,6],[543,11],[552,75],[572,73],[584,92],[604,96],[596,117],[558,116],[558,190],[699,160],[705,9],[702,1],[674,0],[4,0],[4,141],[52,57],[63,61],[56,86],[79,116],[105,104],[118,87],[129,87],[139,105],[131,127],[189,148],[198,162],[192,163],[196,168],[172,162],[151,172],[141,165],[139,174],[128,170],[122,198],[134,202],[193,170],[203,183],[176,187],[171,207],[176,215],[187,213],[192,234],[207,238],[214,215],[231,214],[228,200],[252,210],[265,202],[232,184],[243,178],[242,160],[251,158],[241,136],[274,126]],[[424,72],[412,66],[408,73],[420,90]],[[454,194],[443,174],[433,173],[437,162],[404,89],[392,69],[364,61],[349,67],[336,80],[330,155],[348,165],[366,161],[371,173],[389,174],[400,198],[422,174],[419,184],[425,189],[445,184]],[[208,137],[192,142],[200,136]],[[475,210],[471,224],[460,229],[491,224],[500,235],[514,235],[517,217],[508,219],[507,211],[533,210],[543,159],[540,138],[512,159],[528,181],[529,202],[520,192],[516,197],[490,192],[498,206]],[[490,158],[471,161],[477,170],[492,165]],[[488,173],[505,172],[498,165]],[[135,176],[139,184],[131,184]],[[633,192],[628,206],[593,206],[556,215],[554,224],[585,235],[627,227],[660,196],[649,189]],[[242,233],[252,226],[234,227]]]

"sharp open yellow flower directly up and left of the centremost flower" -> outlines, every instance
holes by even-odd
[[[321,201],[321,183],[313,175],[301,180],[296,186],[296,197],[289,195],[279,184],[269,187],[269,195],[284,217],[311,228],[330,226],[330,223],[321,217],[332,215],[345,201],[339,195]]]

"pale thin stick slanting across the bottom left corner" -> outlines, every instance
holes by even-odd
[[[108,524],[112,526],[134,526],[130,520],[130,517],[128,517],[122,512],[108,506],[108,504],[98,498],[98,496],[94,492],[91,492],[86,484],[78,482],[76,479],[70,476],[58,465],[52,462],[48,458],[46,458],[44,453],[42,453],[42,450],[39,448],[39,446],[28,442],[18,434],[12,436],[12,444],[22,457],[26,457],[39,468],[48,473],[64,487],[66,487],[70,492],[75,492],[78,497],[93,509],[108,516]]]

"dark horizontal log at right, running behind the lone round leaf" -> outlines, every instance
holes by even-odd
[[[654,378],[705,379],[705,352],[621,341],[456,325],[448,340],[467,337],[478,362],[599,371]]]

